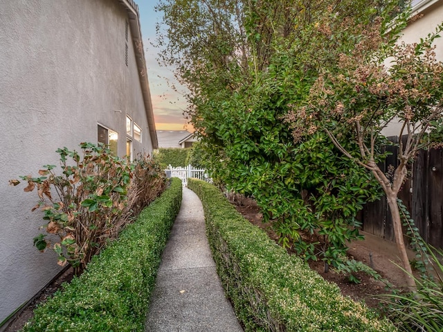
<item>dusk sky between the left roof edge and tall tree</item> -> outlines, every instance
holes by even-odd
[[[156,60],[159,49],[155,49],[151,44],[156,40],[156,22],[161,21],[161,13],[154,10],[157,0],[137,0],[136,3],[140,12],[156,129],[183,130],[183,125],[187,123],[183,117],[186,101],[181,94],[177,94],[168,86],[168,80],[175,82],[174,75],[170,69],[159,66]],[[190,125],[186,125],[186,128],[193,131]]]

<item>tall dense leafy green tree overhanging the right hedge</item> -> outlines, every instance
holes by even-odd
[[[161,57],[176,65],[190,91],[188,118],[210,176],[253,195],[282,245],[306,259],[338,265],[346,241],[359,238],[357,212],[379,187],[325,134],[313,131],[293,143],[284,115],[396,2],[163,0],[158,6],[167,26],[160,41],[169,50]],[[302,231],[318,237],[320,252]]]

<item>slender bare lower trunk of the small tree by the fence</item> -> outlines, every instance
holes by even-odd
[[[406,252],[406,245],[404,244],[399,206],[397,204],[397,195],[395,194],[395,192],[391,192],[386,193],[386,197],[388,198],[388,206],[390,209],[390,215],[392,217],[392,227],[394,227],[395,243],[397,243],[397,249],[399,250],[399,255],[403,268],[407,272],[406,283],[408,284],[408,288],[410,290],[415,291],[417,285],[415,284],[415,280],[412,277],[413,270],[410,268],[408,254]]]

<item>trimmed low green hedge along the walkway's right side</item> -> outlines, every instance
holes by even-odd
[[[204,206],[217,271],[245,331],[396,331],[251,225],[212,184],[190,179]]]

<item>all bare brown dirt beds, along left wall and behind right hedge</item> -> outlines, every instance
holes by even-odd
[[[264,229],[273,240],[277,240],[277,236],[271,230],[269,224],[262,222],[262,213],[253,200],[242,200],[241,202],[233,203],[237,211],[251,221],[254,225]],[[383,238],[377,238],[371,234],[365,234],[364,241],[355,241],[350,243],[349,254],[357,261],[362,261],[366,265],[371,265],[374,270],[379,272],[381,277],[387,279],[395,285],[397,288],[401,288],[406,285],[404,273],[393,263],[399,264],[397,257],[397,248],[395,243],[383,240]],[[413,252],[410,252],[410,258],[414,257]],[[357,274],[357,277],[361,279],[361,283],[350,283],[347,277],[342,274],[337,274],[332,270],[324,272],[323,262],[310,262],[309,265],[313,270],[316,270],[320,275],[328,281],[332,281],[341,288],[343,295],[349,296],[352,299],[362,300],[368,306],[372,308],[378,308],[379,300],[374,295],[386,294],[386,284],[368,277],[366,274]],[[33,299],[30,304],[24,307],[17,317],[10,322],[8,328],[4,332],[17,332],[21,329],[28,320],[33,316],[33,310],[37,304],[44,302],[49,296],[51,296],[57,289],[61,288],[62,283],[71,281],[73,277],[72,269],[66,270],[60,275],[53,283],[49,284],[42,292]],[[1,329],[0,329],[1,331]]]

